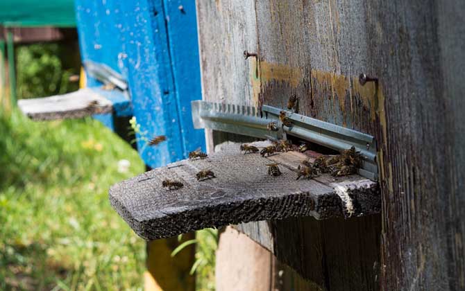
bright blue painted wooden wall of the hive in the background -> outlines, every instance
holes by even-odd
[[[83,60],[107,64],[128,80],[144,162],[164,166],[205,148],[190,108],[191,100],[201,99],[194,1],[77,0],[76,13]],[[90,78],[88,85],[99,82]],[[108,116],[98,117],[110,124]],[[157,135],[167,141],[146,145]]]

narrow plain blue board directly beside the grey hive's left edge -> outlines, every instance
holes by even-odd
[[[205,133],[194,129],[191,112],[191,101],[202,99],[195,1],[164,0],[164,10],[183,153],[188,157],[196,148],[205,150]]]

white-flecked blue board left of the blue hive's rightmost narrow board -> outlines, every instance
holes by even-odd
[[[167,42],[162,0],[121,2],[124,10],[128,82],[140,124],[137,148],[151,168],[183,158],[183,138]],[[147,145],[153,136],[167,141]]]

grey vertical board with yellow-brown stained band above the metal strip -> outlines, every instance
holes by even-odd
[[[375,88],[365,72],[365,13],[360,1],[258,1],[260,96],[323,121],[373,133]]]

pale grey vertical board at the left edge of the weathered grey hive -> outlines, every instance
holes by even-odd
[[[196,1],[204,100],[256,106],[255,1]]]

